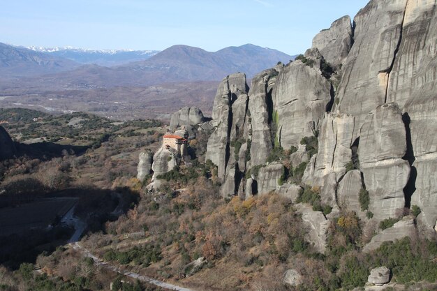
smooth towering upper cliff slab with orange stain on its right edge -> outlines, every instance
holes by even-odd
[[[368,112],[385,103],[407,0],[372,0],[355,16],[354,44],[339,85],[342,113],[355,117],[354,140]]]

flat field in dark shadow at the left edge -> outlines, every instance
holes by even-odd
[[[76,202],[75,197],[47,198],[0,209],[0,233],[6,236],[45,228],[64,216]]]

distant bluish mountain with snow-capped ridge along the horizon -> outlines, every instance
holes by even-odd
[[[77,47],[27,47],[35,52],[64,57],[80,64],[118,66],[133,61],[145,61],[153,57],[157,50],[91,50]]]

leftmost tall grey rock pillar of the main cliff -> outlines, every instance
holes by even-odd
[[[243,99],[247,98],[246,90],[246,75],[242,73],[229,75],[228,77],[225,77],[223,82],[218,86],[216,97],[214,99],[212,119],[216,128],[209,137],[206,158],[217,165],[218,178],[221,179],[221,181],[225,181],[226,167],[228,166],[229,158],[231,156],[230,132],[232,129],[232,121],[235,119],[237,124],[241,124],[241,120],[244,120],[244,116],[241,117],[240,115],[246,114],[244,110],[237,110],[237,114],[234,118],[232,113],[232,103],[238,100],[240,96],[242,96]],[[242,104],[241,107],[245,107],[244,102],[238,102],[237,104]],[[236,105],[235,107],[239,108],[240,106]],[[240,126],[244,126],[244,124]],[[234,126],[234,128],[236,132],[237,126]]]

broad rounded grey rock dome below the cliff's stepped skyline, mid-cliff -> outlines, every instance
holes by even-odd
[[[276,140],[284,149],[297,147],[304,136],[313,135],[331,100],[331,84],[302,61],[281,70],[273,94]]]

